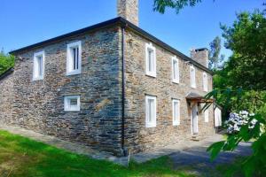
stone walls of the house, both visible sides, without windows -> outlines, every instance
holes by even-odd
[[[185,96],[190,92],[207,94],[203,91],[203,70],[195,65],[197,88],[192,89],[192,64],[176,54],[180,83],[173,83],[171,58],[175,53],[152,42],[148,35],[137,33],[137,27],[121,23],[17,52],[14,73],[0,81],[0,121],[121,156],[124,43],[125,149],[138,152],[191,139],[191,107],[195,103],[188,103]],[[121,27],[126,27],[125,42]],[[66,76],[66,45],[76,41],[82,42],[82,73]],[[145,75],[145,43],[150,42],[156,48],[156,78]],[[34,53],[41,50],[45,52],[44,78],[33,81]],[[207,78],[211,90],[212,75],[207,73]],[[65,112],[64,96],[77,95],[81,97],[81,111]],[[157,96],[156,127],[145,127],[145,95]],[[180,100],[179,126],[173,126],[172,98]],[[202,113],[199,115],[199,137],[214,132],[214,112],[210,108],[208,122]]]

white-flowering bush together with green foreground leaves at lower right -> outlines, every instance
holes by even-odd
[[[207,99],[211,97],[218,99],[223,104],[230,104],[231,99],[241,98],[241,89],[239,90],[218,90],[210,92],[205,96]],[[205,110],[211,104],[206,104],[202,109]],[[240,170],[245,173],[246,177],[263,176],[266,173],[266,120],[261,114],[249,113],[241,111],[239,113],[231,113],[230,119],[225,126],[229,135],[225,141],[215,142],[207,151],[210,152],[211,160],[214,160],[221,151],[233,151],[239,146],[239,142],[252,142],[251,148],[253,153],[246,157],[241,165]],[[231,166],[226,172],[227,176],[233,176],[239,169]]]

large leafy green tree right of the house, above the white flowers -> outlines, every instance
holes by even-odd
[[[225,47],[233,55],[224,66],[232,88],[266,89],[266,19],[262,12],[242,12],[232,27],[221,26]]]

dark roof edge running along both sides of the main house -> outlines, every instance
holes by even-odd
[[[51,39],[43,41],[43,42],[37,42],[33,45],[29,45],[29,46],[21,48],[19,50],[12,50],[10,52],[10,54],[16,55],[16,54],[18,54],[22,51],[25,51],[25,50],[33,50],[33,49],[38,48],[38,47],[43,47],[43,45],[48,45],[48,44],[51,44],[54,42],[62,41],[68,37],[73,37],[74,35],[85,34],[85,33],[88,33],[90,31],[97,30],[99,28],[109,27],[109,26],[113,26],[113,25],[121,25],[121,27],[129,27],[130,29],[137,32],[138,35],[144,36],[148,40],[159,45],[160,47],[165,48],[165,49],[169,50],[170,52],[174,53],[176,56],[179,56],[180,58],[183,58],[184,60],[189,61],[190,63],[198,66],[200,69],[206,71],[207,73],[213,74],[213,72],[211,70],[209,70],[205,65],[201,65],[197,61],[193,60],[192,58],[189,58],[188,56],[184,55],[182,52],[174,49],[173,47],[169,46],[167,43],[160,41],[160,39],[156,38],[155,36],[153,36],[147,32],[145,32],[145,30],[141,29],[140,27],[137,27],[133,23],[129,22],[127,19],[123,19],[121,17],[118,17],[115,19],[109,19],[109,20],[104,21],[102,23],[98,23],[98,24],[90,26],[90,27],[85,27],[85,28],[76,30],[74,32],[68,33],[66,35],[59,35],[58,37],[54,37],[54,38],[51,38]]]

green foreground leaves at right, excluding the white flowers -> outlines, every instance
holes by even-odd
[[[234,101],[243,102],[241,101],[242,95],[242,89],[215,89],[207,94],[206,98],[208,99],[213,97],[221,103],[228,105]],[[208,105],[209,104],[206,104],[203,109],[207,109]],[[261,114],[254,114],[254,116],[249,115],[248,123],[250,123],[253,119],[257,120],[254,128],[250,129],[248,124],[243,125],[240,127],[239,133],[228,135],[226,141],[215,142],[207,149],[207,151],[210,152],[211,159],[214,160],[221,151],[235,150],[238,147],[239,142],[250,142],[253,140],[252,155],[242,161],[240,165],[240,170],[245,173],[246,177],[254,175],[262,176],[262,174],[266,173],[266,120]],[[232,176],[238,170],[238,168],[231,167],[231,169],[227,171],[227,175]]]

